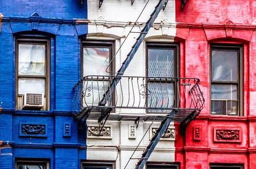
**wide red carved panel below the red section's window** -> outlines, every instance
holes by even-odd
[[[238,128],[214,128],[214,142],[241,142],[242,133]]]

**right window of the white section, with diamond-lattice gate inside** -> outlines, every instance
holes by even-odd
[[[178,76],[177,44],[147,43],[146,51],[146,76],[169,78]],[[148,107],[165,107],[165,104],[174,106],[175,98],[168,97],[168,95],[174,96],[175,81],[169,81],[166,85],[168,86],[168,91],[166,91],[168,94],[163,96],[160,81],[154,79],[147,81],[147,87],[151,92],[150,98],[147,99]],[[148,110],[148,112],[163,112],[163,110]]]

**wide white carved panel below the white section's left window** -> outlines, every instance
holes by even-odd
[[[99,130],[99,126],[87,126],[86,132],[87,132],[88,139],[112,139],[111,126],[104,126],[101,132]]]

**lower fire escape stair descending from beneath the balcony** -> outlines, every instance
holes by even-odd
[[[165,131],[168,129],[168,126],[170,125],[170,122],[173,119],[175,113],[176,110],[171,111],[169,115],[166,116],[165,119],[161,122],[161,125],[156,130],[156,134],[154,135],[154,137],[152,137],[149,145],[147,145],[144,152],[142,153],[140,160],[137,162],[135,169],[143,169],[151,153],[154,151],[157,143],[160,141],[161,136],[163,136],[165,134]]]

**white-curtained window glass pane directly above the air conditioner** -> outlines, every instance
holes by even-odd
[[[19,78],[18,94],[43,93],[45,94],[45,79],[41,78]]]

